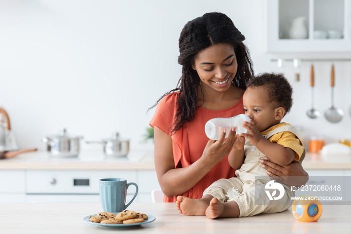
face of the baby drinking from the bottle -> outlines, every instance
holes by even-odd
[[[272,102],[269,102],[268,93],[263,86],[247,88],[243,95],[243,102],[245,114],[256,123],[260,132],[277,124],[276,108]]]

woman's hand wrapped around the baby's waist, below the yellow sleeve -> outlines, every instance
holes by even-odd
[[[260,162],[261,167],[267,170],[267,174],[280,183],[299,188],[308,181],[308,173],[303,170],[299,161],[292,161],[288,165],[280,166],[264,157]]]

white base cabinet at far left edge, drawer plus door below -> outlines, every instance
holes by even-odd
[[[25,201],[25,172],[0,171],[0,202]]]

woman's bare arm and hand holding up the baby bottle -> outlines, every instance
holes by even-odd
[[[218,141],[209,140],[203,155],[188,167],[175,168],[170,136],[154,127],[154,158],[158,183],[167,197],[182,194],[197,184],[216,163],[232,149],[235,132],[231,131],[224,141],[225,133]]]

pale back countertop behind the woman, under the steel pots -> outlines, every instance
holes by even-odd
[[[351,170],[351,155],[306,154],[305,170]],[[49,157],[46,152],[20,154],[0,160],[0,170],[154,170],[153,151],[129,152],[127,157],[106,157],[83,152],[75,158]]]

